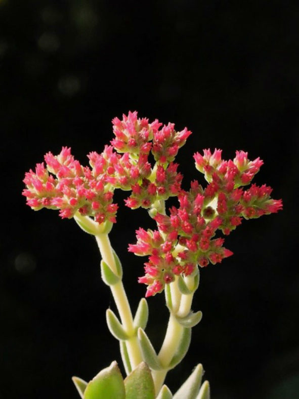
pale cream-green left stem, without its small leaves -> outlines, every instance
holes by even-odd
[[[102,259],[117,274],[116,264],[113,256],[112,247],[109,241],[108,234],[97,234],[96,240],[102,255]],[[129,354],[132,370],[134,370],[139,363],[142,362],[142,355],[138,344],[136,333],[134,332],[133,316],[129,301],[125,294],[122,281],[109,286],[112,292],[120,320],[127,335],[131,336],[125,341],[127,352]]]

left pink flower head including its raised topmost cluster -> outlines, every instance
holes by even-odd
[[[149,124],[148,119],[138,118],[136,111],[123,115],[122,121],[114,118],[112,123],[112,145],[105,146],[102,153],[91,152],[90,167],[81,166],[70,148],[63,147],[58,155],[45,155],[46,167],[37,164],[35,171],[25,174],[23,195],[32,209],[58,209],[62,218],[79,212],[99,223],[115,222],[115,188],[132,190],[125,199],[132,209],[150,208],[159,199],[178,195],[182,175],[170,161],[191,132],[186,128],[176,132],[174,124],[161,127],[157,119]],[[153,168],[148,160],[151,151],[156,158]]]

